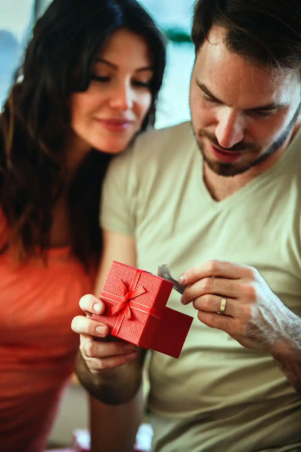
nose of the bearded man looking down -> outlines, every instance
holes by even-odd
[[[220,146],[231,148],[244,138],[244,118],[229,107],[222,107],[218,115],[215,136]]]

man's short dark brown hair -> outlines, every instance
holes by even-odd
[[[225,29],[229,52],[259,66],[301,70],[299,0],[197,0],[191,33],[196,53],[213,25]]]

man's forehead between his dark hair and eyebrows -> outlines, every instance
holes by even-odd
[[[258,102],[273,100],[279,103],[290,101],[299,86],[296,72],[285,73],[273,68],[261,68],[241,56],[229,52],[223,43],[220,27],[213,28],[208,40],[200,47],[195,61],[194,74],[216,97],[231,99],[247,96]],[[226,100],[226,99],[225,99]]]

